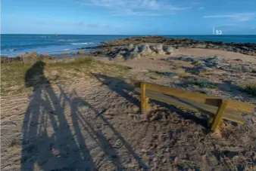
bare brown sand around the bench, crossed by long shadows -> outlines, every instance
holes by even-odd
[[[205,57],[219,52],[189,49],[176,55],[181,53]],[[236,60],[234,53],[220,54]],[[123,62],[95,57],[133,69],[123,75],[124,81],[117,73],[104,75],[95,69],[90,78],[77,78],[73,84],[42,84],[33,93],[2,96],[1,170],[255,170],[255,112],[245,116],[245,125],[225,121],[217,133],[209,132],[198,114],[171,105],[151,101],[155,116],[151,121],[140,114],[139,96],[130,87],[130,78],[179,84],[180,80],[148,71],[173,72],[179,65],[190,65],[161,58]],[[242,60],[254,63],[255,59]],[[211,77],[213,81],[226,78]],[[256,102],[246,93],[211,91]]]

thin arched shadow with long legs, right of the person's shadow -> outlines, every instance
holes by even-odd
[[[116,166],[117,170],[123,170],[124,166],[123,163],[120,160],[120,156],[118,155],[117,151],[113,148],[113,145],[111,142],[108,141],[108,139],[104,136],[103,133],[101,133],[100,130],[96,128],[95,121],[92,119],[88,119],[85,116],[86,111],[80,111],[79,110],[79,104],[86,106],[89,108],[89,110],[92,111],[94,114],[94,118],[100,118],[101,121],[104,122],[105,125],[107,125],[113,133],[117,136],[118,139],[120,139],[120,142],[123,143],[124,147],[126,148],[127,151],[133,156],[133,158],[137,161],[139,164],[139,167],[142,170],[148,170],[148,166],[145,165],[145,163],[141,160],[138,154],[133,150],[133,148],[129,145],[128,142],[123,138],[123,136],[118,133],[118,131],[113,127],[111,123],[102,115],[102,113],[105,112],[106,109],[103,109],[102,111],[97,111],[92,105],[89,104],[89,102],[86,102],[85,99],[82,99],[80,97],[73,98],[70,102],[71,105],[71,115],[73,118],[73,124],[77,124],[76,122],[78,121],[80,124],[82,124],[83,128],[89,133],[92,137],[96,137],[98,145],[100,145],[102,151],[105,152],[105,154],[111,158],[112,162]]]

